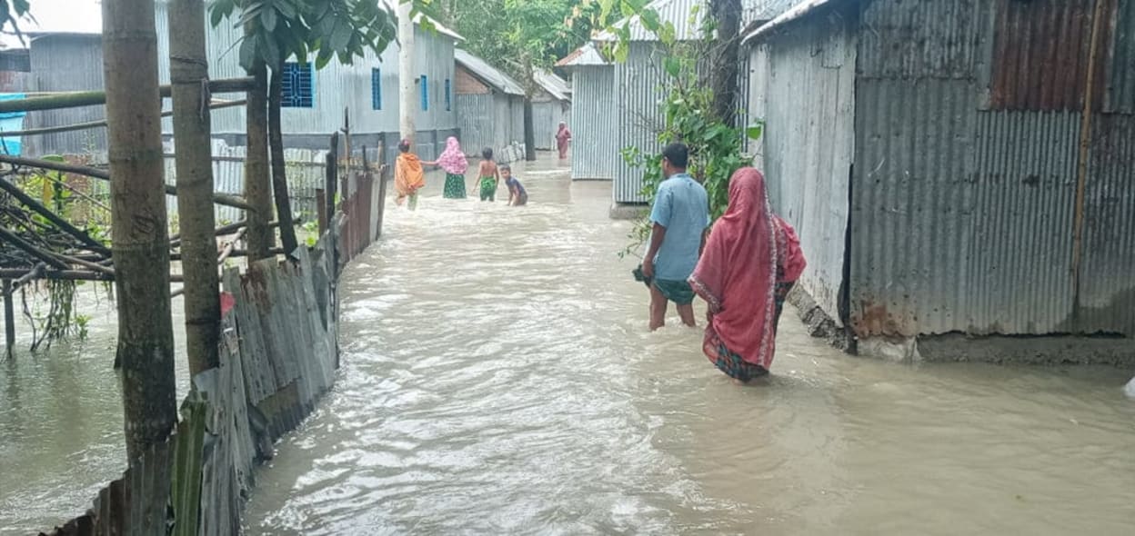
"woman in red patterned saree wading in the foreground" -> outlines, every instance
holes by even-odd
[[[703,350],[717,368],[740,382],[768,374],[784,298],[805,265],[796,231],[770,207],[764,176],[738,170],[690,275],[709,304]]]

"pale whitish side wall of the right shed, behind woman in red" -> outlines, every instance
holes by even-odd
[[[808,267],[800,284],[836,322],[843,284],[848,182],[855,141],[855,36],[824,19],[764,50],[765,167],[774,210],[800,235]],[[764,69],[762,69],[764,70]]]

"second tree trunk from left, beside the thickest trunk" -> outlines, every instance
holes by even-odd
[[[220,278],[212,206],[212,141],[203,0],[169,5],[169,82],[174,86],[177,215],[185,274],[185,350],[190,375],[220,365]]]

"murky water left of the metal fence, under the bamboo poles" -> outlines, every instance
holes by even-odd
[[[182,307],[175,299],[178,356]],[[0,535],[37,534],[82,514],[126,468],[114,304],[101,286],[84,284],[76,309],[91,316],[86,339],[32,355],[31,326],[20,318],[16,358],[0,355]],[[186,365],[178,357],[178,399],[188,389]]]

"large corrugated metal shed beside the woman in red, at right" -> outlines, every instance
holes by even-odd
[[[746,42],[834,322],[1135,337],[1135,1],[808,0]]]

